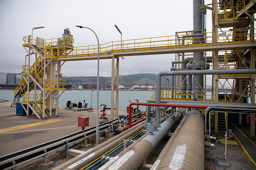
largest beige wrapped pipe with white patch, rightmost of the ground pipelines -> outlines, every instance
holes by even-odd
[[[197,110],[190,112],[157,170],[204,170],[204,123]]]

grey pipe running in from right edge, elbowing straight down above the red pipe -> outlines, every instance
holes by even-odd
[[[156,76],[156,103],[161,103],[161,76],[177,75],[219,75],[219,74],[255,74],[256,69],[235,69],[235,70],[178,70],[162,71]],[[156,118],[160,118],[159,106],[156,106]]]

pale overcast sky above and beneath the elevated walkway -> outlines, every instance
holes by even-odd
[[[212,0],[205,0],[205,4]],[[207,31],[211,32],[211,12],[207,10]],[[23,37],[51,39],[69,28],[74,46],[96,45],[94,33],[75,25],[92,28],[100,44],[121,39],[172,36],[193,30],[193,0],[0,0],[0,72],[21,73],[27,52]],[[159,73],[170,70],[175,55],[133,56],[120,59],[120,75]],[[63,76],[97,76],[97,61],[69,61]],[[100,76],[111,76],[111,60],[100,60]],[[207,83],[208,84],[208,83]]]

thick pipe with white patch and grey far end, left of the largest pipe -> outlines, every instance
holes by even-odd
[[[137,170],[174,124],[172,117],[166,119],[157,131],[147,135],[106,170]]]

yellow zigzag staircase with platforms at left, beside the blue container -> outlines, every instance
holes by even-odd
[[[51,67],[56,66],[56,60],[53,60],[53,56],[51,56],[51,49],[47,50],[44,42],[38,42],[37,40],[31,38],[31,43],[29,44],[29,40],[27,41],[27,37],[24,37],[24,41],[28,42],[23,44],[23,46],[31,48],[34,52],[37,53],[37,59],[32,66],[24,65],[22,66],[22,80],[17,85],[16,89],[13,91],[14,98],[13,104],[18,103],[20,98],[22,98],[21,103],[27,104],[29,103],[29,107],[31,110],[37,115],[43,115],[43,103],[50,99],[52,93],[56,93],[57,90],[65,90],[63,80],[55,80],[48,79],[46,75]],[[28,38],[29,39],[29,38]],[[41,46],[37,46],[40,44]],[[43,46],[43,47],[42,47]],[[45,58],[45,55],[47,58]],[[45,61],[44,61],[45,60]],[[45,63],[45,64],[44,64]],[[45,69],[45,72],[44,72]],[[28,82],[29,76],[29,82]],[[45,79],[44,79],[45,77]],[[62,83],[60,83],[62,82]],[[60,87],[62,85],[62,87]],[[40,88],[40,91],[37,94],[31,94],[30,92],[33,88]],[[29,88],[29,89],[28,89]],[[45,91],[45,95],[43,98],[43,91]],[[39,113],[39,115],[38,115]],[[50,109],[45,106],[45,116],[50,115]]]

